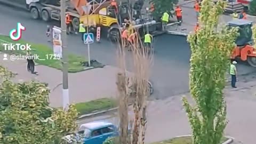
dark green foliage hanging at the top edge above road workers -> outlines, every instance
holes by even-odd
[[[172,11],[174,10],[173,7],[175,4],[178,4],[178,0],[150,0],[150,3],[154,4],[155,11],[153,12],[153,16],[155,18],[161,18],[164,12],[168,12],[171,17]]]

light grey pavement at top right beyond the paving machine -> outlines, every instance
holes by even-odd
[[[183,3],[183,2],[181,2]],[[169,34],[175,34],[175,35],[187,35],[190,33],[190,31],[194,31],[194,27],[196,25],[196,12],[194,10],[194,2],[190,1],[190,3],[181,4],[182,9],[182,19],[183,22],[181,26],[173,25],[168,27],[168,33]],[[256,22],[256,17],[247,15],[248,20]],[[175,15],[173,18],[170,18],[171,21],[177,21]],[[226,25],[227,22],[232,20],[232,17],[230,15],[221,15],[220,18],[220,25]]]

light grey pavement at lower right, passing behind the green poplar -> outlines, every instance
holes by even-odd
[[[227,86],[225,89],[227,120],[229,122],[225,135],[234,137],[236,141],[242,141],[239,143],[252,144],[255,143],[254,133],[256,129],[255,78],[254,81],[247,83],[238,82],[237,87],[238,89],[232,89]],[[186,93],[148,102],[146,143],[170,139],[177,135],[191,134],[188,118],[181,101],[184,95],[191,101],[190,94]],[[117,123],[118,118],[115,115],[117,113],[81,119],[78,123],[83,124],[91,121]],[[132,109],[130,115],[133,115]]]

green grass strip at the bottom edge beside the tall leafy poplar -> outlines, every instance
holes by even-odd
[[[227,140],[228,140],[228,138],[223,137],[221,143],[223,143]],[[181,137],[181,138],[173,138],[173,139],[165,140],[165,141],[154,142],[151,144],[192,144],[192,139],[191,139],[191,137]]]

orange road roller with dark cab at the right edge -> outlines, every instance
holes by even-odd
[[[256,67],[256,49],[253,47],[252,23],[249,20],[235,19],[228,22],[228,26],[238,27],[239,32],[231,59],[240,58],[242,61],[247,61],[252,67]]]

